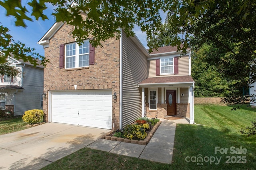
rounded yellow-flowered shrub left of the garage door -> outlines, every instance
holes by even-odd
[[[40,109],[32,109],[25,111],[22,119],[30,124],[39,123],[43,121],[44,111]]]

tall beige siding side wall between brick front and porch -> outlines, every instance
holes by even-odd
[[[137,83],[147,78],[147,57],[131,38],[122,36],[122,126],[142,116],[142,98]]]

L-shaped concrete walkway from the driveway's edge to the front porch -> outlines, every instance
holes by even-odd
[[[114,154],[131,156],[165,164],[172,163],[174,147],[174,136],[177,123],[189,124],[186,119],[166,120],[160,119],[162,123],[150,139],[148,145],[110,141],[98,139],[88,145],[88,148],[102,150]]]

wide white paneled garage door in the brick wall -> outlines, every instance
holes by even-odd
[[[52,122],[112,129],[112,90],[52,91]]]

